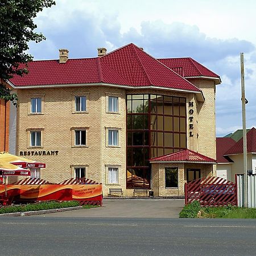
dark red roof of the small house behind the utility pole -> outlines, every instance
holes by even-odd
[[[246,134],[247,139],[247,152],[256,153],[256,129],[253,127]],[[224,155],[242,154],[243,153],[243,138],[241,138],[236,144],[230,147]]]

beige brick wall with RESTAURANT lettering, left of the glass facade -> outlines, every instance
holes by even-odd
[[[119,113],[107,113],[106,93],[119,97]],[[86,95],[86,113],[75,113],[75,96]],[[86,177],[104,184],[105,165],[119,165],[118,186],[125,187],[125,90],[105,87],[23,89],[18,92],[17,152],[59,151],[58,155],[26,156],[46,163],[41,177],[53,182],[75,177],[85,167]],[[30,98],[43,97],[43,114],[30,114]],[[106,127],[118,129],[118,147],[106,146]],[[30,147],[30,131],[42,130],[42,146]],[[75,129],[86,129],[86,146],[75,146]]]

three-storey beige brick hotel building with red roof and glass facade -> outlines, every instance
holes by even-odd
[[[32,61],[18,94],[16,154],[46,163],[34,176],[86,177],[109,188],[184,196],[216,175],[218,75],[187,58],[155,59],[134,44],[98,57]],[[139,193],[143,195],[143,193]],[[139,196],[138,195],[138,196]]]

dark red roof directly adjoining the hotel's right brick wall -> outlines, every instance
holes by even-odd
[[[230,147],[234,146],[236,141],[232,138],[224,137],[224,138],[216,138],[216,154],[217,154],[217,163],[232,163],[233,161],[229,158],[225,158],[223,155],[226,151],[229,150]]]

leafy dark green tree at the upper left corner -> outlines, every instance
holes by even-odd
[[[52,5],[55,5],[53,0],[0,1],[0,98],[13,102],[17,100],[16,94],[6,88],[4,81],[14,75],[28,73],[26,64],[33,58],[26,52],[28,42],[39,43],[46,39],[43,34],[34,31],[34,18],[44,7]]]

